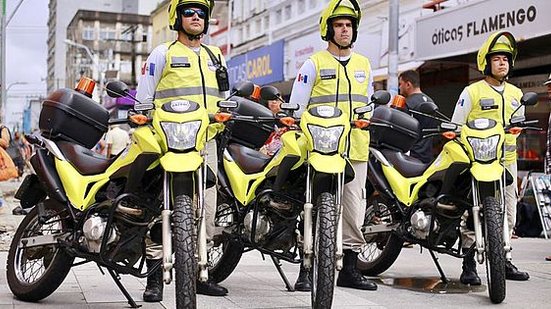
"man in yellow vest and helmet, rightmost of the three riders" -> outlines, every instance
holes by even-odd
[[[489,118],[510,124],[513,112],[520,105],[522,91],[512,84],[507,83],[507,77],[513,68],[517,56],[517,44],[513,35],[509,32],[496,32],[492,34],[478,50],[478,70],[485,75],[483,80],[467,86],[459,97],[455,106],[452,121],[465,124],[477,118]],[[524,108],[521,107],[515,116],[523,116]],[[505,188],[505,207],[507,209],[507,221],[509,237],[512,236],[517,212],[517,136],[507,134],[505,137],[505,168],[512,176],[512,184]],[[465,222],[464,222],[465,223]],[[465,225],[465,224],[462,225]],[[462,226],[463,250],[469,248],[473,241],[473,232]],[[463,259],[463,272],[460,280],[463,284],[480,285],[480,278],[476,272],[474,250]],[[519,271],[511,261],[506,262],[505,277],[509,280],[528,280],[530,276],[526,272]]]

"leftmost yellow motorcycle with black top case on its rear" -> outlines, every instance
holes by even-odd
[[[138,102],[122,82],[106,89]],[[32,209],[7,260],[8,285],[18,299],[39,301],[73,266],[93,262],[107,269],[133,308],[139,306],[119,275],[145,278],[159,267],[167,284],[174,269],[176,307],[196,306],[196,279],[208,276],[203,192],[214,184],[204,151],[211,120],[203,106],[186,100],[136,109],[110,121],[135,131],[122,153],[106,159],[89,149],[106,131],[105,108],[71,89],[43,102],[42,135],[27,137],[36,147],[36,174],[16,194],[23,208]],[[162,244],[163,259],[144,271],[146,238]]]

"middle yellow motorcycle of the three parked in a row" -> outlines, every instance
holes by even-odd
[[[211,278],[224,280],[243,251],[256,249],[272,258],[290,291],[293,287],[279,261],[303,263],[311,269],[312,307],[330,308],[335,270],[342,268],[342,190],[353,178],[344,155],[351,123],[332,106],[310,108],[300,120],[295,119],[291,113],[298,105],[285,103],[271,86],[262,87],[261,97],[282,102],[286,112],[275,120],[289,130],[281,136],[282,147],[273,157],[238,143],[221,143],[219,182],[225,203],[218,217],[230,240],[217,253]],[[385,98],[388,102],[388,93]],[[380,93],[373,96],[377,102],[385,98]],[[371,109],[366,106],[355,112],[362,118]],[[274,117],[235,115],[233,121],[273,122]],[[355,126],[366,123],[364,119],[353,122]],[[231,140],[232,126],[226,129],[226,140]]]

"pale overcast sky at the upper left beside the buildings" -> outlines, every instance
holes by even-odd
[[[11,15],[19,1],[7,1],[7,16]],[[17,112],[22,110],[27,101],[25,96],[46,93],[46,82],[43,79],[46,77],[47,67],[47,22],[48,0],[25,0],[8,24],[6,85],[15,82],[28,84],[14,85],[10,88],[7,117],[10,117],[10,112],[17,115]]]

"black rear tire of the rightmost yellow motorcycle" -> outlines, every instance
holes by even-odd
[[[370,206],[366,210],[366,218],[371,217],[372,212],[374,211],[374,206]],[[395,219],[390,216],[392,222],[394,223]],[[366,219],[365,224],[369,224],[369,219]],[[366,239],[366,246],[362,249],[363,251],[358,255],[358,269],[362,274],[366,276],[378,276],[379,274],[385,272],[387,269],[394,264],[400,252],[402,251],[402,246],[404,245],[404,240],[398,235],[392,232],[382,232],[375,236],[364,235]],[[369,252],[365,252],[369,251]],[[378,255],[377,252],[379,253]],[[372,253],[372,254],[369,254]],[[369,256],[367,256],[369,254]]]

